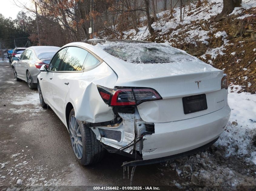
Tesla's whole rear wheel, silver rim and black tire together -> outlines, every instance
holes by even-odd
[[[78,162],[82,165],[98,163],[103,158],[105,149],[91,128],[75,118],[74,109],[69,114],[68,126],[71,145]]]

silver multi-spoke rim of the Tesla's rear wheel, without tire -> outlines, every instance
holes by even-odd
[[[72,115],[69,119],[69,135],[75,155],[78,159],[81,159],[83,156],[82,135],[80,126],[74,115]]]

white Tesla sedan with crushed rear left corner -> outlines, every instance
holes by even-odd
[[[40,70],[41,105],[65,124],[83,165],[104,151],[133,158],[124,166],[188,155],[213,144],[230,117],[227,75],[166,44],[69,43]]]

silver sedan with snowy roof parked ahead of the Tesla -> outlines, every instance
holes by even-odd
[[[58,49],[60,47],[57,46],[31,46],[19,58],[12,57],[14,61],[18,61],[12,62],[16,81],[24,80],[30,89],[36,88],[41,66],[48,65]]]

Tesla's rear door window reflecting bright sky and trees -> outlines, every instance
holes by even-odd
[[[70,46],[63,58],[60,71],[81,71],[88,52],[84,49]]]

